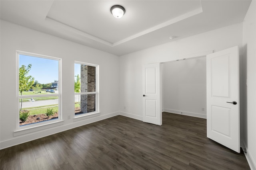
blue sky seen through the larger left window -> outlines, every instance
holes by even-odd
[[[19,55],[19,67],[32,64],[28,75],[35,78],[41,84],[52,83],[58,80],[58,60]]]

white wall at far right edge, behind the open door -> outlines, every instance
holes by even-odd
[[[252,1],[243,22],[243,100],[245,107],[243,143],[246,158],[252,170],[256,170],[256,1]]]

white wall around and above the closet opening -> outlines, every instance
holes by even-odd
[[[166,37],[168,38],[168,37]],[[203,51],[242,49],[242,23],[158,45],[120,57],[120,111],[142,120],[142,65],[186,58]]]

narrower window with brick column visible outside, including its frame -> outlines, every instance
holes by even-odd
[[[99,112],[98,65],[75,62],[75,117]]]

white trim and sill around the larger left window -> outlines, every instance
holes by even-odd
[[[30,98],[30,97],[36,97],[37,95],[25,95],[25,96],[20,96],[19,94],[19,55],[28,55],[32,57],[39,57],[39,58],[44,58],[44,59],[51,59],[51,60],[56,60],[58,61],[58,81],[59,81],[59,86],[58,86],[58,94],[49,94],[47,96],[58,96],[58,119],[53,119],[49,121],[41,121],[38,123],[32,123],[28,125],[23,125],[20,126],[20,99],[21,98]],[[54,127],[62,124],[62,86],[61,86],[61,78],[62,78],[62,59],[57,58],[57,57],[50,57],[47,55],[40,55],[40,54],[35,54],[35,53],[28,53],[24,51],[16,51],[16,98],[17,98],[17,119],[16,119],[16,130],[14,131],[14,136],[16,135],[22,135],[26,133],[31,133],[34,131],[39,131],[42,129],[46,129],[49,127]],[[39,96],[39,95],[38,95]],[[40,95],[40,97],[44,97],[46,95]],[[16,134],[16,135],[15,135]]]

